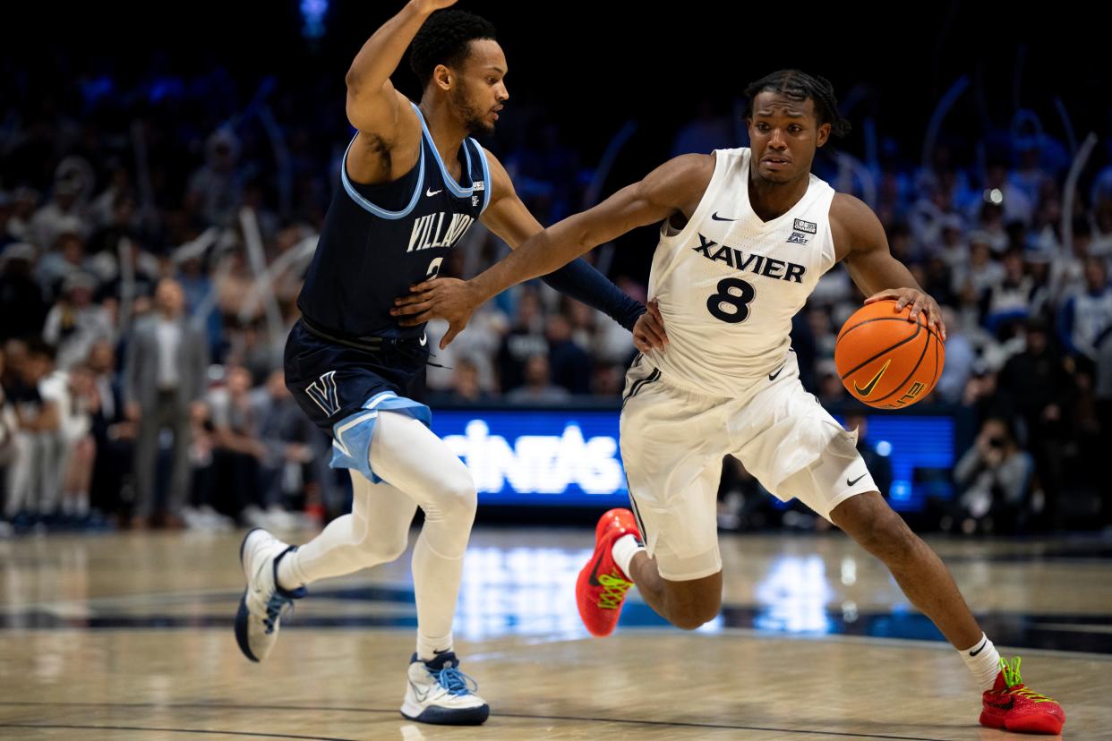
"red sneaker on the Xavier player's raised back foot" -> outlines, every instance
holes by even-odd
[[[583,624],[592,635],[599,638],[614,632],[626,592],[633,587],[610,553],[614,543],[623,535],[641,540],[637,520],[629,510],[610,510],[595,527],[595,554],[583,567],[575,582],[575,600],[579,604]]]

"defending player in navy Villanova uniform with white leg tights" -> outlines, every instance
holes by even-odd
[[[370,37],[347,73],[347,116],[358,132],[298,298],[302,316],[286,344],[285,370],[294,398],[334,438],[331,465],[350,470],[353,509],[300,547],[261,529],[247,534],[236,639],[248,659],[265,659],[282,609],[304,597],[306,584],[398,558],[420,507],[425,524],[413,555],[417,648],[401,713],[474,724],[489,709],[458,669],[451,622],[475,483],[429,430],[428,408],[408,398],[428,358],[424,327],[403,328],[389,310],[410,284],[437,274],[475,220],[510,247],[542,227],[502,163],[470,138],[494,131],[509,98],[507,66],[494,27],[443,10],[451,4],[409,2]],[[410,66],[424,89],[419,104],[390,83],[410,41]],[[659,342],[652,314],[585,262],[545,280],[633,329],[638,348]]]

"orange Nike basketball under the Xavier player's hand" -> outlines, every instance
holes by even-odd
[[[837,333],[834,364],[846,390],[877,409],[903,409],[934,389],[946,349],[920,312],[886,299],[858,309]]]

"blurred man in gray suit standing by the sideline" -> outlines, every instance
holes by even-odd
[[[155,511],[155,462],[163,428],[173,432],[172,472],[165,524],[180,527],[189,494],[190,415],[203,412],[208,372],[205,332],[185,314],[186,297],[172,279],[159,281],[156,311],[136,322],[123,372],[125,409],[139,423],[136,435],[136,503],[132,527],[150,523]]]

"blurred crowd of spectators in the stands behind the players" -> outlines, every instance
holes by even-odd
[[[284,81],[246,108],[219,67],[153,69],[127,88],[108,73],[50,94],[8,86],[0,533],[290,525],[342,508],[329,443],[280,363],[351,134],[335,86]],[[506,119],[490,146],[537,218],[589,206],[584,193],[600,173],[544,111]],[[653,136],[676,153],[744,144],[709,103]],[[929,163],[896,149],[877,162],[816,160],[817,174],[870,202],[893,254],[944,307],[945,371],[921,405],[969,420],[971,433],[955,494],[934,505],[932,525],[1017,531],[1110,518],[1096,461],[1112,437],[1112,166],[1098,148],[1068,187],[1072,154],[1016,130],[972,148],[940,140]],[[471,276],[504,251],[476,224],[443,272]],[[647,258],[626,270],[598,254],[619,287],[647,298]],[[862,299],[835,268],[794,323],[803,382],[832,409],[853,411],[833,348]],[[430,344],[444,330],[429,326]],[[625,330],[534,281],[435,353],[428,399],[614,400],[633,352]],[[724,492],[736,493],[746,474],[728,469]],[[727,510],[735,524],[752,521]]]

